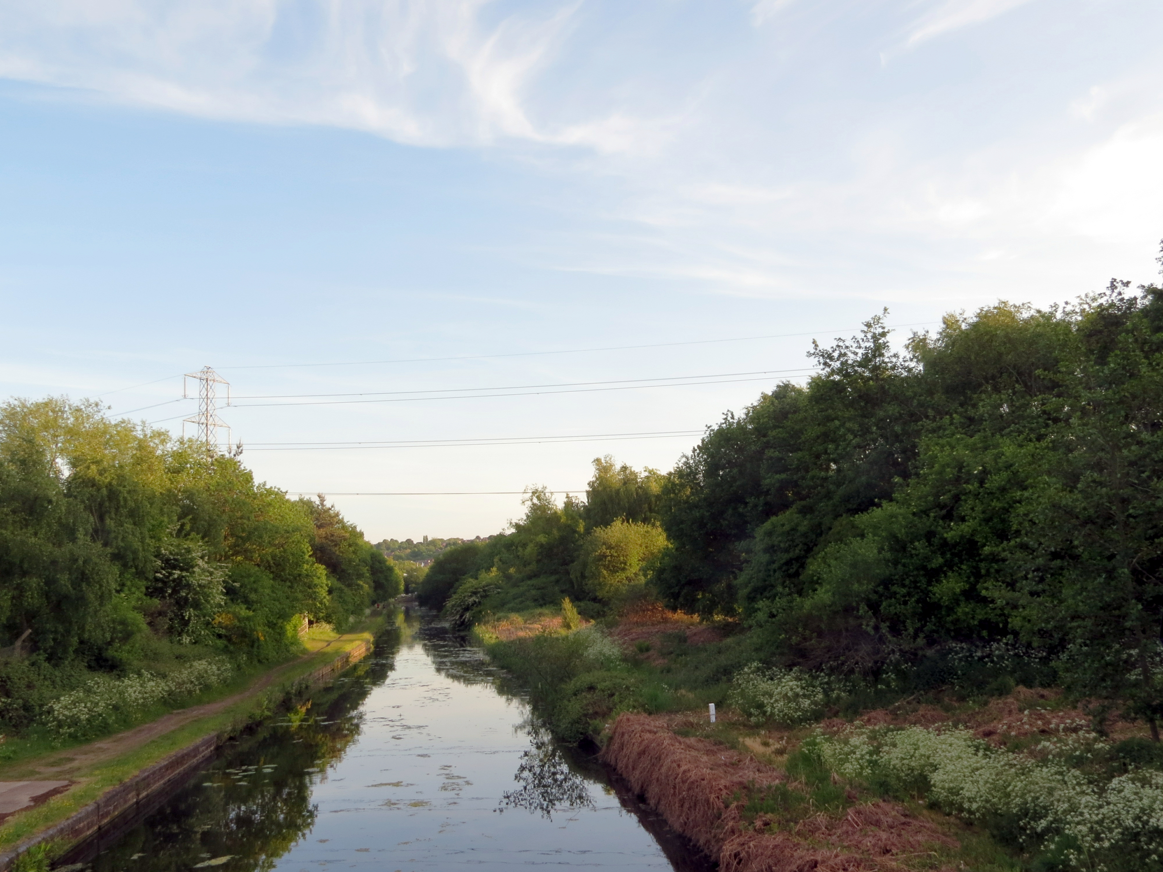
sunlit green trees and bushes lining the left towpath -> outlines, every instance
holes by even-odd
[[[63,399],[0,406],[0,762],[149,720],[400,593],[322,498]]]

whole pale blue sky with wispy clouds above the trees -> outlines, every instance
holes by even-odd
[[[1157,0],[6,0],[0,398],[180,435],[212,366],[261,480],[373,542],[497,533],[884,308],[904,341],[1154,280],[1160,33]]]

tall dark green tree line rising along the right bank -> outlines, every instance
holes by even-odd
[[[421,601],[468,624],[647,592],[871,682],[1019,652],[1157,731],[1163,290],[1000,302],[901,350],[880,315],[811,356],[669,473],[602,458],[584,496],[533,491],[505,535],[437,557]]]

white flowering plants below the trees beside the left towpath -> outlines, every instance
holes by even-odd
[[[142,671],[124,678],[97,676],[45,706],[42,723],[58,739],[84,738],[130,721],[159,702],[177,702],[233,673],[226,658],[194,660],[167,676]]]

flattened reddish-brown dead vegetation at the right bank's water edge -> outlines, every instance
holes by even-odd
[[[883,800],[786,828],[768,815],[748,822],[739,798],[787,775],[708,739],[677,736],[662,716],[621,715],[602,758],[721,872],[898,872],[957,845],[930,821]]]

